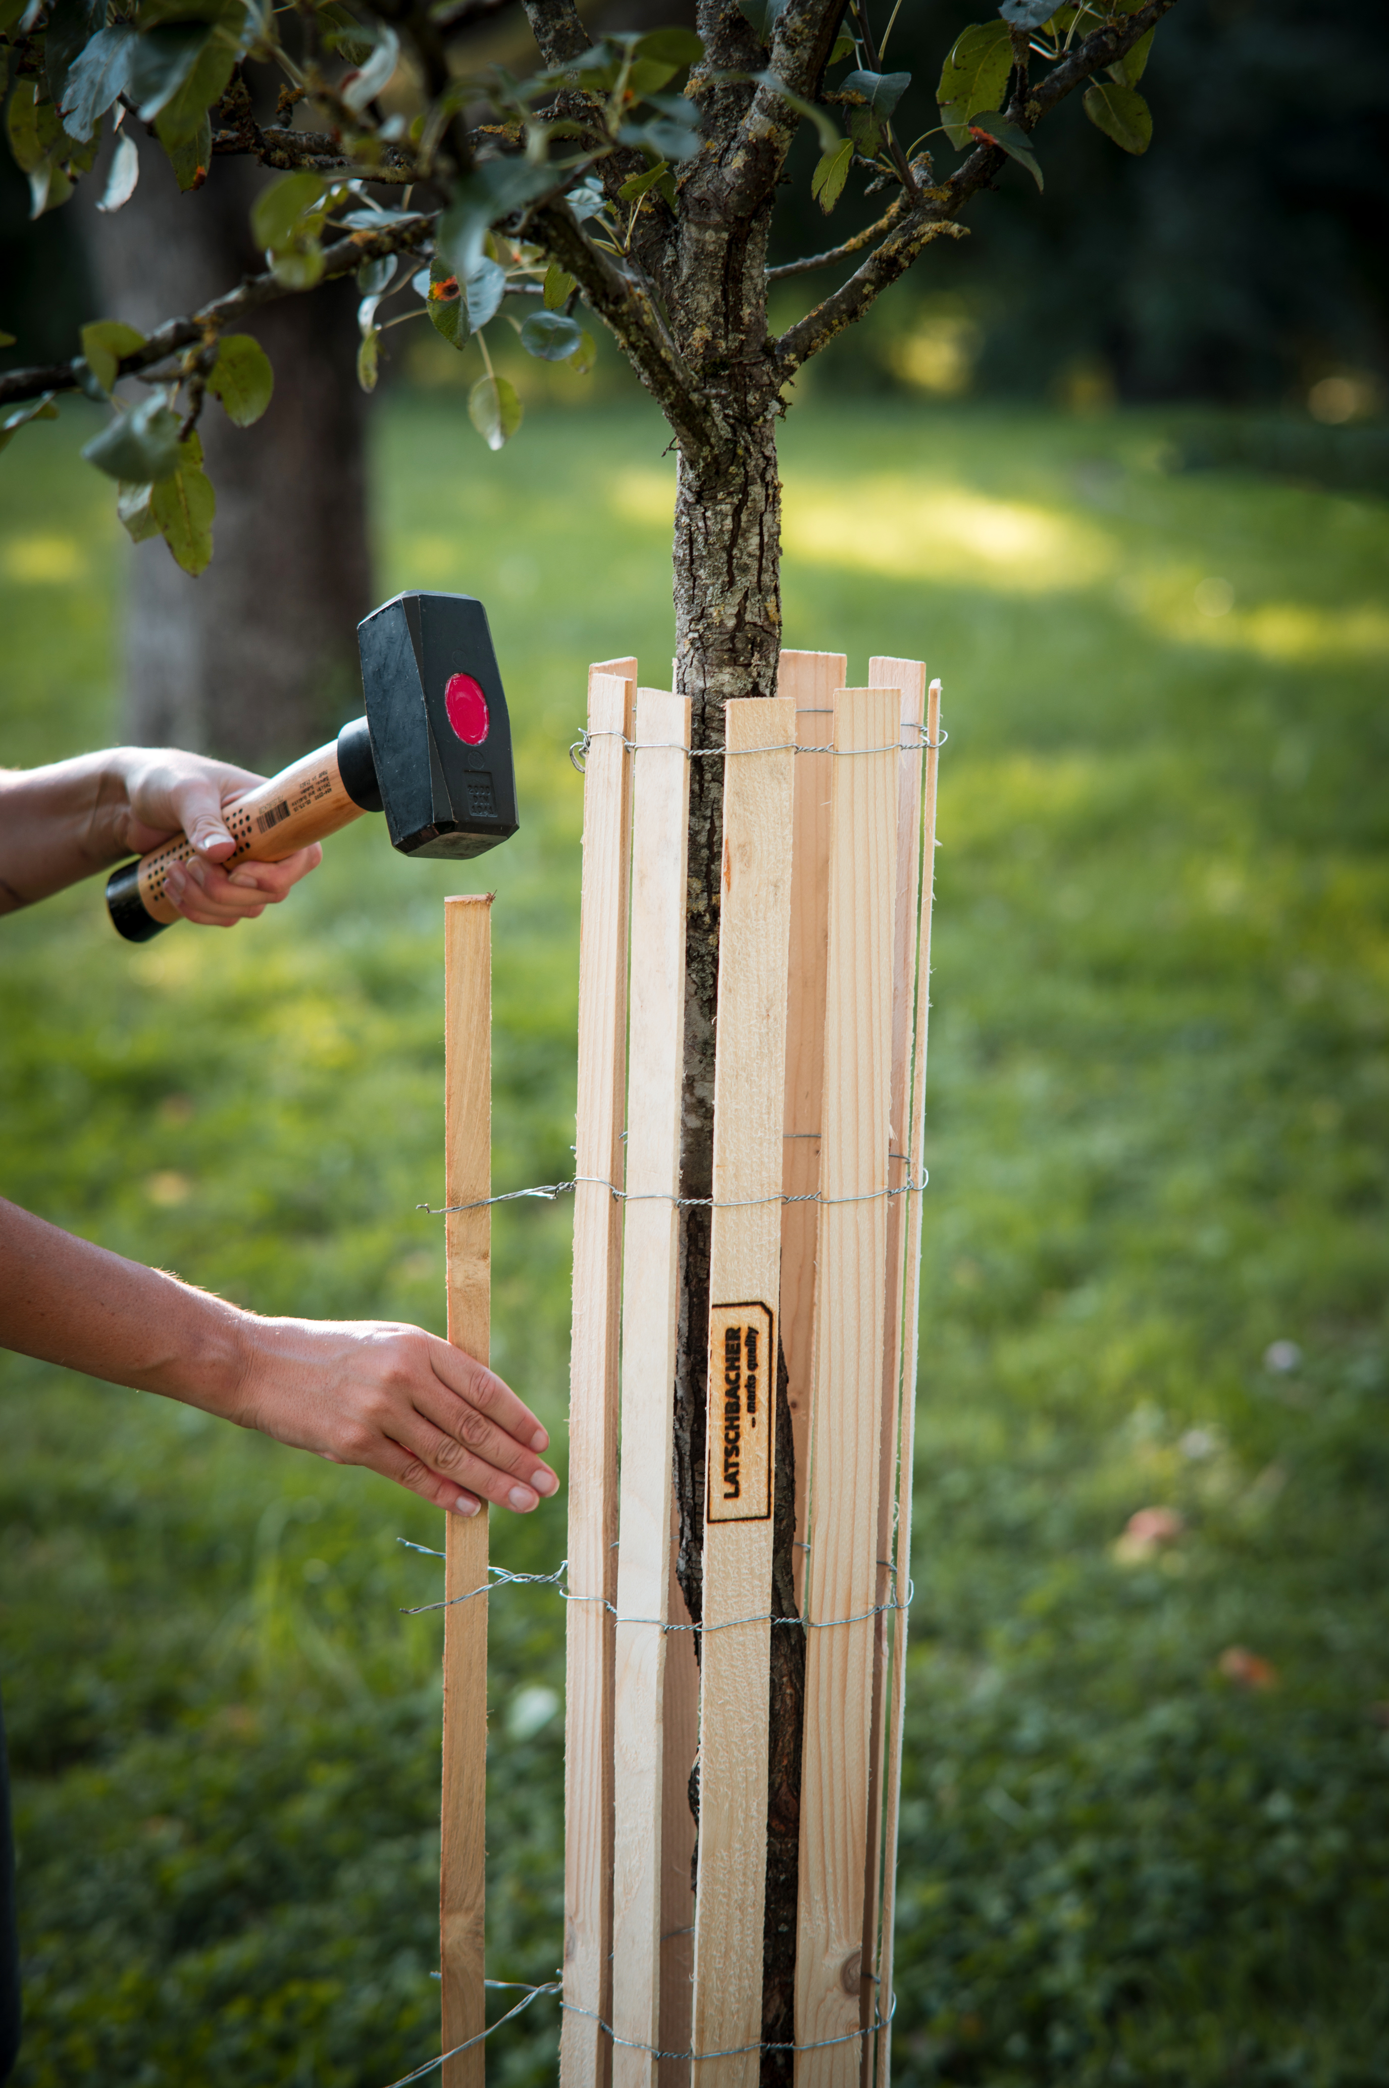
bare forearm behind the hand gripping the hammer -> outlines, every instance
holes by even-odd
[[[125,854],[127,752],[0,770],[0,912],[33,906]]]

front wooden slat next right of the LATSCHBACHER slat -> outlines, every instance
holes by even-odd
[[[810,1409],[796,2088],[858,2075],[888,1274],[888,1084],[900,697],[835,699],[819,1288]],[[888,752],[850,752],[886,748]],[[840,1618],[863,1622],[833,1622]],[[846,2038],[840,2044],[825,2040]],[[806,2050],[804,2046],[817,2046]]]

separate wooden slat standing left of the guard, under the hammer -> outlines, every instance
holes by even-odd
[[[491,1196],[491,900],[443,902],[445,938],[445,1203]],[[445,1217],[449,1340],[489,1361],[491,1211]],[[460,1601],[472,1589],[482,1593]],[[443,1808],[439,1971],[443,2050],[476,2038],[487,1888],[487,1501],[449,1516],[443,1612]],[[482,2088],[482,2044],[443,2063],[443,2088]]]

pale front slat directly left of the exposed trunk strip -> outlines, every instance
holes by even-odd
[[[635,737],[612,1875],[612,2027],[629,2042],[614,2088],[652,2088],[660,2013],[689,702],[639,689]]]

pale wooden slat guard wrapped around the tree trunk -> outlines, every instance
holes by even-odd
[[[775,699],[725,712],[696,1670],[670,1520],[689,706],[635,679],[589,679],[560,2082],[758,2082],[781,1349],[808,1562],[796,2084],[888,2088],[940,691],[913,660],[848,689],[844,656],[787,651]]]

